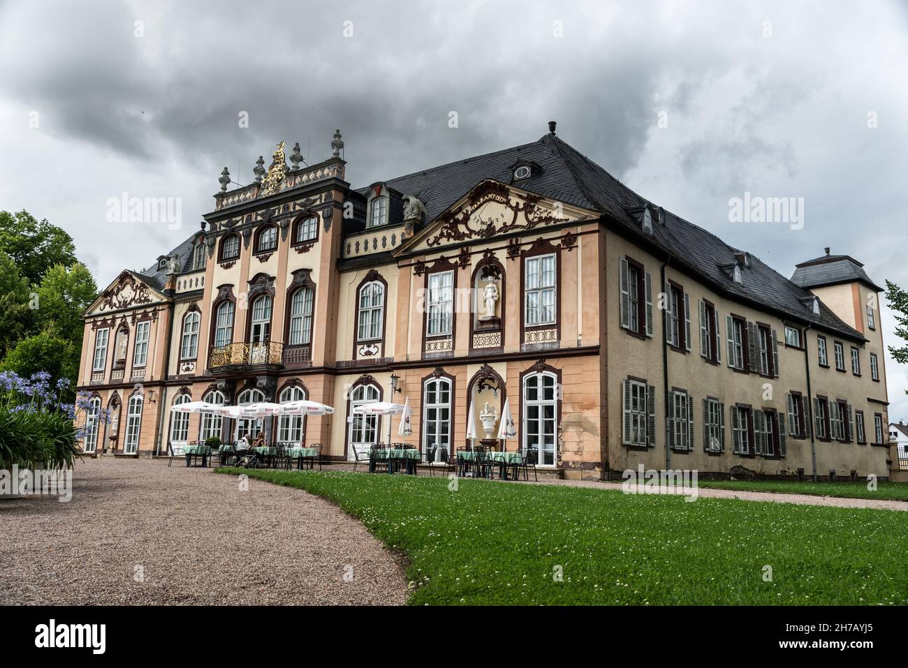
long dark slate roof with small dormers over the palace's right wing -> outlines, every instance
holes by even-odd
[[[750,266],[742,267],[742,283],[735,283],[731,267],[738,261],[735,255],[743,251],[729,246],[712,232],[665,210],[661,210],[665,224],[660,224],[654,215],[653,233],[642,231],[637,215],[649,202],[552,133],[537,142],[449,162],[386,183],[403,194],[416,195],[426,207],[428,223],[483,179],[510,183],[512,166],[522,161],[538,163],[540,171],[515,182],[516,187],[598,211],[632,238],[669,253],[673,265],[683,266],[706,279],[733,299],[750,301],[799,322],[810,322],[821,329],[864,340],[860,332],[846,325],[822,302],[820,313],[814,314],[813,294],[809,290],[753,255]],[[368,188],[359,192],[368,192]],[[864,280],[870,282],[865,274]]]

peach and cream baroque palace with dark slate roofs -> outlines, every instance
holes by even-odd
[[[265,432],[334,460],[413,409],[423,452],[500,420],[564,477],[888,476],[880,288],[829,250],[785,279],[646,201],[556,136],[352,188],[341,133],[283,143],[249,185],[84,314],[84,451],[164,455]],[[302,163],[302,164],[301,164]],[[332,416],[232,420],[174,404],[308,398]],[[488,406],[487,406],[488,405]],[[476,424],[468,429],[470,406]],[[492,432],[498,433],[498,425]]]

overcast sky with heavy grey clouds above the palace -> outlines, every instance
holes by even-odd
[[[361,186],[554,119],[786,276],[830,246],[908,287],[906,44],[908,8],[882,1],[0,0],[0,210],[63,227],[103,287],[197,230],[222,168],[250,182],[275,142],[320,162],[341,128]],[[182,227],[108,222],[123,192],[180,198]],[[803,229],[730,222],[745,192],[804,198]],[[883,327],[895,341],[884,305]],[[886,369],[908,419],[908,370]]]

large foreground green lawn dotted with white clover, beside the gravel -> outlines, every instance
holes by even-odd
[[[300,487],[359,517],[410,557],[411,604],[908,604],[908,515],[896,511],[218,471]]]

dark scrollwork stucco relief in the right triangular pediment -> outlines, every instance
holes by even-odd
[[[520,201],[522,199],[522,201]],[[443,241],[488,239],[496,234],[532,230],[539,225],[564,221],[558,211],[539,205],[542,198],[527,194],[522,198],[511,197],[508,186],[496,181],[481,182],[469,195],[469,200],[459,212],[448,211],[439,216],[441,227],[426,245],[438,246]],[[481,209],[489,202],[504,206],[498,214],[489,213],[484,218]]]

